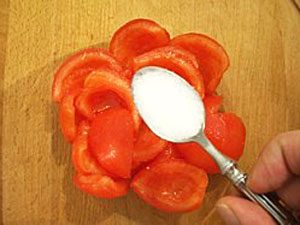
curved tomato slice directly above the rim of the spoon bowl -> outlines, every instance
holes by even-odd
[[[204,83],[196,57],[180,47],[166,46],[146,52],[133,59],[133,70],[145,66],[159,66],[171,70],[194,86],[204,96]]]

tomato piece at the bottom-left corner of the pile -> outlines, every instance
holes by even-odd
[[[127,194],[129,182],[113,179],[102,174],[81,174],[73,178],[74,184],[82,191],[98,198],[118,198]]]

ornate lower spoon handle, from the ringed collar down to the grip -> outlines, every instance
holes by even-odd
[[[224,175],[241,191],[247,198],[258,203],[275,219],[280,225],[297,225],[292,212],[287,209],[286,205],[277,197],[276,193],[256,194],[247,186],[247,174],[239,170],[232,161],[225,171]]]

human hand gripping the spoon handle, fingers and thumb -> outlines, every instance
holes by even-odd
[[[300,130],[274,138],[261,152],[247,185],[256,193],[275,191],[300,212]],[[266,211],[238,196],[221,198],[217,211],[228,225],[275,225]]]

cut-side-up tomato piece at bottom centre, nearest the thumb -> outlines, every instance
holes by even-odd
[[[207,174],[182,160],[169,160],[141,170],[131,183],[145,202],[167,212],[198,208],[208,185]]]

